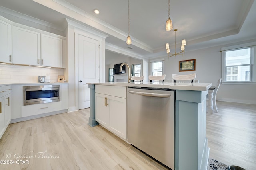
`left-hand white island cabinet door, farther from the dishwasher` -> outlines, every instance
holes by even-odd
[[[108,96],[95,93],[95,120],[108,128],[109,126],[109,106],[106,105]]]

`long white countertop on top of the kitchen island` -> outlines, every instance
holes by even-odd
[[[207,91],[212,83],[149,83],[149,82],[132,82],[132,83],[87,83],[105,86],[127,86],[127,87],[151,87],[151,88],[168,88],[172,90],[193,90]]]

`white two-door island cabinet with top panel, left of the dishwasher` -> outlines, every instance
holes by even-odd
[[[95,92],[96,121],[127,139],[126,87],[96,85]]]

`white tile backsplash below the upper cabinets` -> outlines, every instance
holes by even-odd
[[[0,64],[0,83],[38,83],[38,76],[46,76],[46,82],[58,82],[64,68],[42,68]]]

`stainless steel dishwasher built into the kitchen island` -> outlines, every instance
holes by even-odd
[[[175,90],[127,88],[127,139],[174,170]]]

